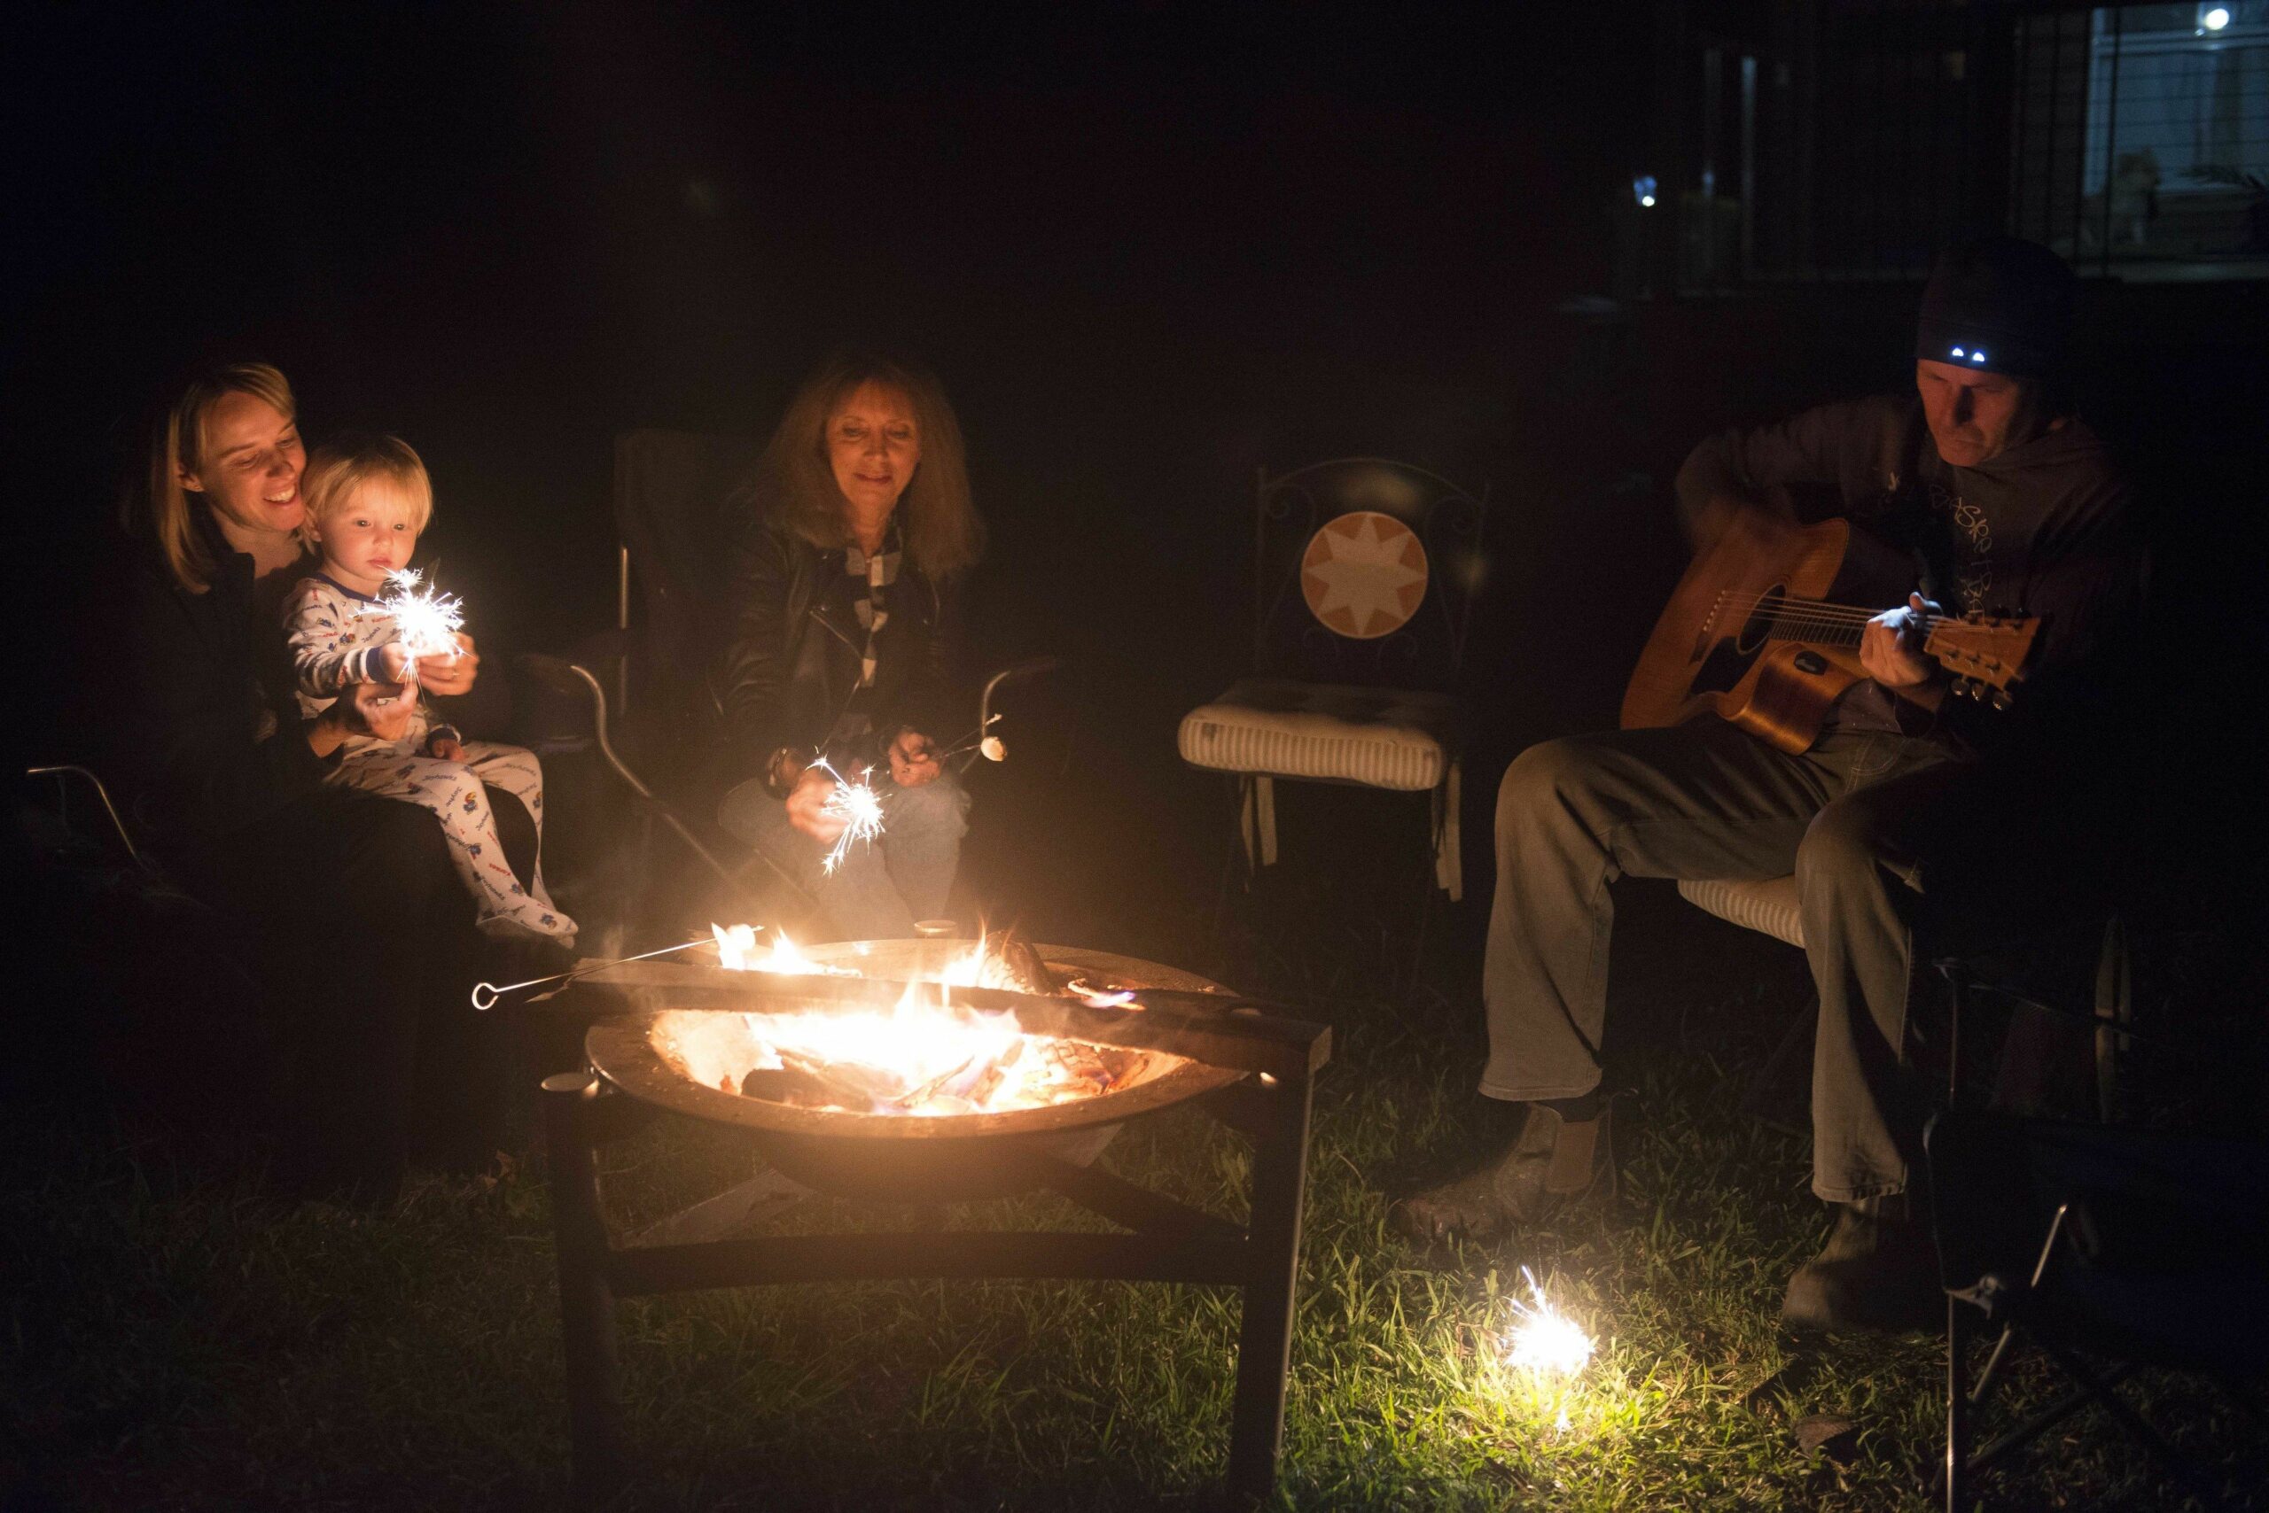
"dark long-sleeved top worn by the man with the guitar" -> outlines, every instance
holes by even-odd
[[[1842,515],[1915,553],[1915,588],[1947,610],[2040,617],[2008,715],[1949,699],[1942,719],[1917,719],[1913,705],[1861,683],[1838,705],[1845,728],[1931,728],[1983,749],[2038,724],[2035,712],[2101,715],[2092,701],[2142,610],[2146,553],[2128,483],[2078,417],[1981,467],[1951,467],[1917,397],[1824,404],[1713,436],[1686,458],[1677,488],[1688,519],[1711,495],[1806,524]]]

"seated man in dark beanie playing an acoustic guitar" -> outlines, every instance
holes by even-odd
[[[2024,826],[2044,817],[2024,810],[2040,808],[2033,769],[2053,753],[2028,730],[2042,728],[2042,699],[2069,708],[2090,687],[2144,581],[2128,488],[2060,386],[2074,295],[2072,270],[2047,247],[1954,247],[1922,297],[1915,395],[1724,433],[1686,460],[1679,510],[1699,556],[1650,644],[1650,662],[1668,665],[1652,671],[1675,694],[1647,685],[1643,662],[1627,728],[1532,746],[1498,789],[1479,1091],[1527,1105],[1520,1134],[1477,1170],[1405,1200],[1405,1229],[1486,1239],[1613,1191],[1597,1057],[1609,882],[1795,873],[1820,991],[1813,1191],[1836,1223],[1790,1282],[1783,1320],[1942,1320],[1915,1186],[1929,1107],[1908,1057],[1915,930],[1933,932],[1960,901],[2040,891],[2044,860]],[[1768,569],[1758,588],[1699,603],[1699,635],[1675,624],[1706,563],[1770,553],[1829,517],[1852,522],[1842,597],[1897,608],[1790,601],[1779,597],[1788,581]],[[1840,542],[1845,526],[1813,526],[1829,529]],[[1940,606],[1983,626],[2024,624],[2026,683],[2010,708],[1999,692],[1992,703],[1947,696],[1956,678],[1938,628],[1956,622],[1938,619]],[[1845,637],[1842,653],[1790,646],[1795,662],[1779,667],[1793,683],[1822,678],[1813,721],[1734,724],[1720,708],[1731,694],[1702,694],[1704,665],[1729,658],[1734,690],[1783,633]],[[1774,699],[1756,703],[1779,708]],[[2004,803],[2008,771],[2028,801]]]

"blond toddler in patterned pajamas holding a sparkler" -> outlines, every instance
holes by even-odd
[[[300,712],[318,715],[349,683],[408,681],[408,696],[417,701],[402,739],[349,735],[329,780],[433,810],[458,876],[481,903],[481,930],[572,944],[576,925],[545,891],[542,867],[529,869],[526,889],[513,876],[481,787],[499,787],[529,808],[540,855],[545,774],[535,753],[467,742],[454,726],[438,724],[417,699],[411,649],[379,603],[386,576],[411,565],[417,533],[433,517],[424,463],[393,436],[347,438],[315,449],[300,488],[306,535],[322,556],[322,567],[284,601]]]

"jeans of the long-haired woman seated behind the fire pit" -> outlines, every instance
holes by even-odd
[[[842,939],[885,941],[914,935],[917,919],[946,912],[953,869],[969,832],[969,789],[953,774],[921,787],[899,787],[876,774],[883,835],[853,844],[835,873],[821,869],[828,846],[787,823],[787,805],[762,778],[742,783],[717,805],[717,823],[787,869],[819,901]]]

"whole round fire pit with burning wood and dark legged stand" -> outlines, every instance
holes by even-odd
[[[903,987],[951,971],[967,953],[967,941],[855,941],[812,948],[803,975],[642,962],[581,982],[581,1005],[601,1014],[585,1037],[590,1073],[545,1080],[579,1486],[606,1490],[622,1477],[617,1298],[769,1282],[1078,1277],[1243,1291],[1228,1486],[1241,1504],[1271,1493],[1284,1427],[1309,1087],[1330,1057],[1330,1030],[1268,1014],[1155,962],[1062,946],[1030,948],[1021,971],[1010,973],[1017,987]],[[851,969],[860,975],[837,975]],[[1055,991],[1026,991],[1035,987]],[[864,1066],[830,1071],[812,1050],[828,1043],[826,1032],[844,1030],[826,1021],[880,1014],[889,1021],[885,1039],[912,1041],[928,1032],[919,1016],[930,1012],[962,1016],[969,1043],[985,1050],[964,1057],[953,1046],[892,1080]],[[801,1023],[805,1016],[821,1023]],[[790,1030],[819,1034],[794,1039]],[[1014,1068],[1026,1057],[1053,1057],[1048,1075],[1007,1087],[1003,1064]],[[1055,1075],[1066,1066],[1069,1082]],[[1021,1107],[962,1111],[964,1091],[946,1091],[955,1087]],[[1094,1166],[1128,1118],[1184,1102],[1252,1139],[1243,1223]],[[724,1193],[622,1243],[601,1216],[597,1148],[663,1114],[749,1130],[801,1189],[921,1202],[1053,1189],[1125,1232],[726,1239],[751,1202]],[[771,1173],[744,1189],[801,1191]]]

